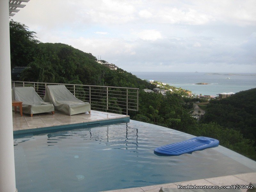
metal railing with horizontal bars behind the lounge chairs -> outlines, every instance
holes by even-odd
[[[42,99],[47,85],[65,85],[76,98],[89,102],[92,110],[128,115],[139,108],[138,88],[12,81],[12,87],[34,87]]]

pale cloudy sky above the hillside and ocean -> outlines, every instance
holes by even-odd
[[[30,0],[15,16],[132,71],[256,73],[255,0]]]

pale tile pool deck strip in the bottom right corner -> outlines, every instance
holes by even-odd
[[[104,192],[159,192],[160,188],[178,188],[178,185],[196,185],[196,186],[230,186],[230,185],[249,185],[249,183],[256,183],[256,172],[244,173],[237,175],[229,175],[223,177],[214,177],[200,180],[190,180],[176,183],[165,183],[162,185],[152,185],[138,188],[127,188],[110,190]],[[223,191],[219,189],[220,191]],[[240,189],[241,192],[246,192],[247,189]]]

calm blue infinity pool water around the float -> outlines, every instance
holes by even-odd
[[[192,137],[133,120],[14,135],[16,188],[95,192],[255,172],[255,161],[221,146],[180,156],[154,154],[156,147]]]

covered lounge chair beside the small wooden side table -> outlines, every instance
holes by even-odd
[[[30,114],[31,117],[37,113],[54,114],[52,103],[44,102],[33,87],[13,87],[12,100],[22,101],[22,112]]]

